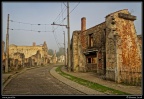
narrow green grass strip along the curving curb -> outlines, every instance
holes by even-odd
[[[112,89],[112,88],[100,85],[98,83],[90,82],[88,80],[84,80],[84,79],[81,79],[81,78],[78,78],[78,77],[66,74],[66,73],[64,73],[64,72],[61,71],[61,67],[62,66],[57,67],[56,68],[56,72],[58,74],[64,76],[65,78],[70,79],[70,80],[72,80],[72,81],[74,81],[76,83],[79,83],[79,84],[84,85],[86,87],[89,87],[91,89],[103,92],[105,94],[131,95],[130,93],[122,92],[122,91],[119,91],[119,90],[116,90],[116,89]]]

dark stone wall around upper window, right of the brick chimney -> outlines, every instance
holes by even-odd
[[[86,35],[85,35],[85,40],[86,40],[86,50],[91,50],[95,49],[97,50],[97,64],[95,67],[97,70],[98,74],[103,74],[104,73],[104,58],[103,55],[105,55],[105,22],[100,23],[94,27],[91,27],[87,29]],[[93,47],[89,47],[89,34],[93,33]],[[92,67],[93,68],[93,67]],[[93,68],[94,69],[94,68]],[[91,69],[92,70],[92,69]],[[89,70],[88,70],[89,71]]]

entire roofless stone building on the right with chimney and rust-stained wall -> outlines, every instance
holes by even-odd
[[[134,20],[136,16],[123,9],[86,29],[83,17],[81,30],[74,31],[71,39],[71,70],[92,71],[117,83],[141,85],[142,37],[136,34]]]

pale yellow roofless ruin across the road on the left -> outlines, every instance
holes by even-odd
[[[36,45],[36,43],[33,43],[33,46],[12,44],[9,46],[9,60],[11,69],[23,66],[46,65],[49,63],[47,44],[46,42],[41,46]]]

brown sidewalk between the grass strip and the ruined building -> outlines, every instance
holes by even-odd
[[[140,86],[127,86],[127,85],[117,84],[117,83],[112,82],[112,81],[103,80],[101,78],[98,78],[96,76],[96,74],[93,72],[86,72],[86,73],[68,72],[64,66],[61,68],[61,70],[66,74],[70,74],[70,75],[73,75],[73,76],[78,77],[78,78],[82,78],[82,79],[85,79],[85,80],[88,80],[88,81],[91,81],[94,83],[98,83],[98,84],[101,84],[101,85],[109,87],[109,88],[113,88],[116,90],[127,92],[127,93],[130,93],[133,95],[142,95],[142,87],[140,87]]]

